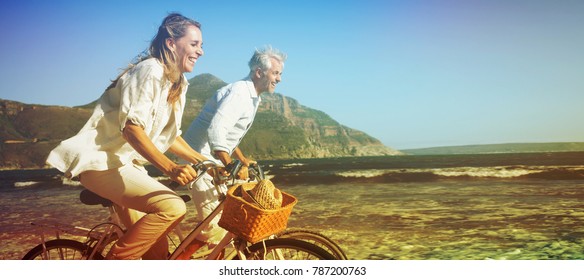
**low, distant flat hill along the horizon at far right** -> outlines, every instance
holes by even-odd
[[[490,145],[433,147],[401,151],[408,155],[580,152],[584,151],[584,143],[583,142],[507,143]]]

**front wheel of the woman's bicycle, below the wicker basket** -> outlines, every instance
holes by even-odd
[[[334,260],[326,250],[306,241],[289,238],[267,239],[245,249],[248,260]],[[238,259],[236,256],[234,259]]]

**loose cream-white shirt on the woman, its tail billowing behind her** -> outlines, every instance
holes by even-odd
[[[167,101],[171,86],[156,58],[140,62],[120,77],[115,87],[98,100],[92,116],[79,133],[51,151],[47,163],[75,177],[87,170],[108,170],[144,159],[122,136],[127,121],[139,125],[162,152],[181,134],[180,126],[188,82],[173,105]],[[165,82],[163,82],[165,81]]]

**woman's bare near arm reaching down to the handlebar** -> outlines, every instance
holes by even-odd
[[[197,172],[190,165],[178,165],[159,151],[142,127],[128,121],[122,134],[140,155],[173,181],[186,185],[197,176]]]

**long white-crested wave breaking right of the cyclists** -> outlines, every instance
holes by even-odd
[[[288,183],[419,182],[436,180],[543,179],[582,180],[584,166],[495,166],[413,169],[364,169],[339,172],[279,172],[273,180]]]

